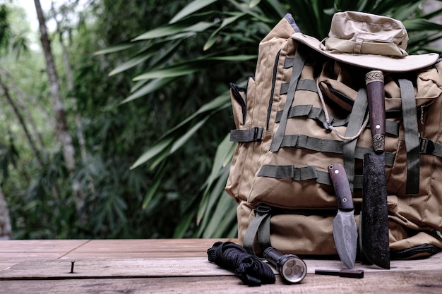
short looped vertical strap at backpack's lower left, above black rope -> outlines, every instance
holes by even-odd
[[[258,244],[261,252],[270,247],[270,207],[259,205],[255,209],[255,218],[249,223],[246,234],[244,235],[243,246],[251,255],[255,255],[253,243],[258,237]],[[269,233],[265,233],[268,231]]]

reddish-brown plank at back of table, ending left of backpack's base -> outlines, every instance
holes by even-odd
[[[205,257],[208,248],[217,241],[237,239],[151,239],[151,240],[90,240],[66,257],[148,258]]]

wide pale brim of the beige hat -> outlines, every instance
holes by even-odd
[[[420,68],[426,68],[434,65],[439,57],[439,55],[436,53],[407,55],[401,58],[371,54],[332,53],[330,51],[323,50],[321,47],[321,42],[318,39],[304,35],[301,32],[295,32],[292,35],[292,38],[306,44],[311,49],[314,49],[315,51],[318,51],[331,59],[342,61],[353,66],[360,66],[362,68],[370,68],[379,71],[415,71]]]

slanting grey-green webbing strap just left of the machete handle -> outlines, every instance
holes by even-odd
[[[347,124],[347,130],[345,131],[345,137],[353,137],[357,135],[364,123],[364,116],[368,106],[366,90],[362,88],[357,92],[356,99],[354,100],[352,112]],[[346,141],[343,145],[342,157],[344,158],[344,169],[347,173],[348,181],[350,183],[350,189],[353,191],[353,179],[354,179],[354,154],[356,153],[357,139]]]

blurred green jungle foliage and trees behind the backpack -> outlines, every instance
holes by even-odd
[[[253,76],[258,42],[287,12],[323,39],[353,10],[441,52],[441,6],[0,0],[0,238],[235,237],[229,82]]]

